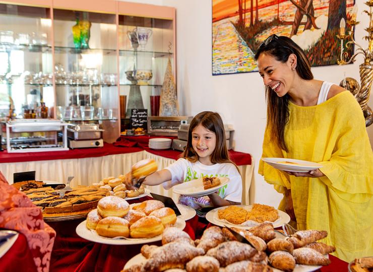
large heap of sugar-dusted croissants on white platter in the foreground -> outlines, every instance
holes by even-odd
[[[230,231],[245,237],[238,242]],[[121,272],[152,272],[174,269],[188,272],[296,271],[306,272],[330,264],[334,246],[318,242],[326,231],[298,231],[285,237],[265,222],[250,230],[212,226],[199,240],[188,233],[167,227],[162,245],[143,245]]]

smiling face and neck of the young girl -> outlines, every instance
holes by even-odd
[[[192,131],[192,146],[197,152],[199,161],[205,165],[211,165],[211,154],[216,147],[216,134],[199,124]]]

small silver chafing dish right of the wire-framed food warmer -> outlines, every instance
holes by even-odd
[[[76,141],[96,140],[102,138],[102,131],[104,131],[104,129],[100,129],[98,124],[69,124],[68,137]]]

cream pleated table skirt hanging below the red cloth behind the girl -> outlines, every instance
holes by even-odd
[[[71,184],[72,186],[90,185],[93,182],[102,180],[104,177],[117,177],[120,174],[128,173],[133,164],[146,158],[152,158],[157,161],[159,170],[175,161],[141,151],[82,159],[1,163],[0,171],[3,172],[9,183],[13,183],[13,173],[36,171],[36,180],[65,183],[69,176],[75,176]],[[238,166],[238,168],[242,175],[242,203],[248,205],[250,203],[249,189],[254,179],[254,160],[252,161],[252,165],[242,165]],[[178,197],[172,193],[172,188],[170,190],[163,189],[163,186],[148,186],[148,188],[151,192],[170,196],[173,199],[177,199]]]

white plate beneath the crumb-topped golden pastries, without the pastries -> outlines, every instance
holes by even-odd
[[[234,206],[237,206],[237,207],[250,207],[250,206],[245,206],[245,205],[234,205]],[[212,223],[214,225],[220,226],[220,227],[224,227],[224,225],[227,225],[228,227],[236,227],[236,228],[244,229],[244,230],[248,230],[248,229],[251,229],[253,227],[253,226],[234,225],[232,223],[228,223],[226,221],[220,220],[218,218],[218,210],[225,209],[227,207],[229,207],[229,206],[219,207],[219,208],[216,208],[216,209],[211,210],[210,212],[208,212],[206,214],[207,221],[209,221],[210,223]],[[290,222],[290,216],[287,213],[284,213],[284,212],[279,211],[279,210],[277,210],[277,212],[278,212],[279,218],[275,222],[272,222],[272,225],[273,225],[274,228],[281,227],[285,223],[289,223]]]

